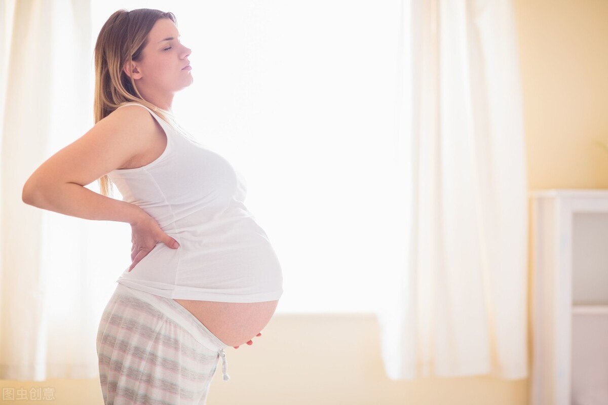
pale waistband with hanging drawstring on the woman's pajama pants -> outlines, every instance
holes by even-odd
[[[182,305],[178,304],[178,302],[175,302],[171,298],[148,293],[147,291],[136,290],[135,288],[127,287],[126,285],[120,283],[118,283],[114,293],[128,294],[144,302],[148,302],[148,304],[153,305],[154,308],[164,313],[167,318],[171,319],[171,321],[176,322],[176,324],[187,330],[190,335],[196,339],[196,341],[200,342],[210,350],[216,350],[219,357],[222,359],[224,381],[228,381],[230,379],[230,376],[227,373],[226,352],[224,351],[224,349],[226,349],[228,346],[219,340],[217,336],[213,335],[213,333],[207,329],[205,325],[203,325],[201,321],[196,318],[196,316],[190,313],[190,311],[188,311],[186,308],[182,307]]]

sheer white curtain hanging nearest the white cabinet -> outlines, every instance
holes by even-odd
[[[527,180],[510,0],[402,0],[393,379],[527,376]],[[405,248],[405,249],[404,249]]]

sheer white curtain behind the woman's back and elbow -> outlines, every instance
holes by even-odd
[[[103,234],[116,223],[21,200],[27,177],[92,127],[90,4],[19,0],[2,7],[0,378],[94,378],[98,321],[114,273],[126,267],[125,260],[109,264],[115,255],[106,254],[112,240]]]

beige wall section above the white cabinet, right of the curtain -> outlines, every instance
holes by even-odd
[[[608,2],[516,0],[530,189],[608,188]]]

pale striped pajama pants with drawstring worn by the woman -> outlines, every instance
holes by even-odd
[[[205,404],[226,344],[171,298],[118,284],[97,332],[106,405]]]

